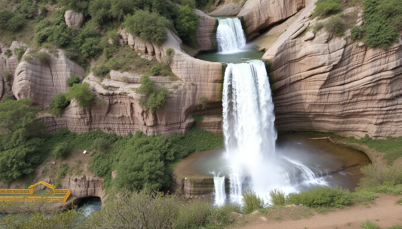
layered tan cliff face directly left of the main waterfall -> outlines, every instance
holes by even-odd
[[[91,106],[80,109],[73,99],[62,116],[43,115],[49,132],[68,128],[78,133],[100,129],[118,135],[136,130],[145,134],[183,133],[193,124],[191,114],[199,106],[199,97],[206,96],[207,102],[222,100],[222,63],[190,57],[181,49],[181,40],[170,31],[162,45],[144,42],[124,31],[120,33],[123,42],[139,53],[168,63],[180,79],[170,81],[167,77],[151,77],[156,86],[170,91],[166,107],[150,114],[139,106],[141,96],[135,93],[135,88],[141,85],[139,75],[111,71],[110,79],[100,82],[90,74],[84,81],[94,91],[95,100]],[[170,59],[166,57],[168,48],[174,50]]]

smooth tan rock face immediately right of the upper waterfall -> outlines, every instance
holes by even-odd
[[[305,6],[305,0],[248,0],[237,16],[244,18],[247,36],[292,16]]]

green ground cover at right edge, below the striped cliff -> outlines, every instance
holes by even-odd
[[[378,152],[383,152],[386,155],[384,159],[387,160],[388,165],[392,165],[394,160],[402,157],[402,136],[392,137],[386,136],[385,139],[373,139],[368,134],[364,138],[356,139],[355,137],[348,137],[345,139],[347,142],[366,145],[369,148],[375,149]]]

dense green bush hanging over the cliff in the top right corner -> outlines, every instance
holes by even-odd
[[[381,49],[387,49],[392,41],[398,41],[399,33],[398,29],[389,23],[392,17],[383,13],[382,10],[386,7],[381,7],[380,2],[383,1],[365,0],[363,2],[363,30],[366,31],[366,45],[369,47],[378,45]],[[393,2],[398,6],[398,1]]]

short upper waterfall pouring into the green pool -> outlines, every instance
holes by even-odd
[[[216,40],[220,53],[230,53],[246,45],[246,37],[239,18],[218,19],[218,22]]]

